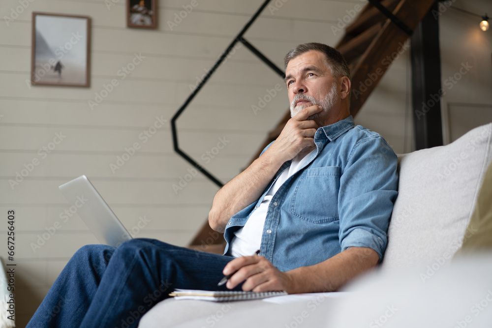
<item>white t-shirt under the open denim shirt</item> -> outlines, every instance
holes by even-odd
[[[253,210],[253,213],[249,216],[244,227],[234,233],[229,249],[230,255],[234,257],[250,256],[260,249],[261,235],[263,234],[263,226],[265,225],[265,219],[267,218],[270,201],[280,186],[289,179],[289,177],[299,171],[304,162],[306,162],[307,157],[309,157],[314,150],[310,151],[302,158],[298,155],[292,159],[290,166],[280,174],[263,198],[260,206]]]

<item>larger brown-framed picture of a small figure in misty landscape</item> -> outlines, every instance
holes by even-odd
[[[32,13],[31,85],[90,86],[91,18]]]

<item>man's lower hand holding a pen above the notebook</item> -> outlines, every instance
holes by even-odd
[[[243,281],[245,292],[287,291],[289,293],[292,289],[292,277],[289,273],[280,272],[263,256],[242,256],[232,260],[225,266],[222,273],[228,275],[233,272],[236,273],[229,278],[226,284],[229,289],[233,289]]]

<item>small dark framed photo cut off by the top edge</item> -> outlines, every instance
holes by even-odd
[[[126,0],[126,26],[157,28],[157,0]]]

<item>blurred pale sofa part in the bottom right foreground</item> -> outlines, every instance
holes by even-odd
[[[354,281],[346,288],[352,293],[330,304],[323,327],[491,327],[492,253],[453,259],[425,282],[421,274],[400,268]]]

